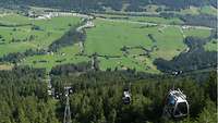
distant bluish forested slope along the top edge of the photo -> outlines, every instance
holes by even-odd
[[[10,4],[10,5],[9,5]],[[129,4],[126,11],[143,11],[142,7],[147,4],[166,5],[171,10],[179,10],[203,5],[214,5],[216,0],[1,0],[0,5],[11,8],[12,5],[38,5],[47,8],[60,8],[63,10],[73,9],[75,11],[105,11],[106,8],[120,11],[123,4]]]

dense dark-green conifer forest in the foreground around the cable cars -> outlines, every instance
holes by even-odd
[[[75,65],[75,64],[74,64]],[[61,67],[61,66],[60,66]],[[61,70],[61,69],[59,69]],[[57,70],[57,71],[59,71]],[[152,75],[134,71],[89,71],[76,75],[50,73],[56,91],[71,86],[72,123],[173,123],[162,119],[165,97],[180,88],[191,106],[180,123],[215,123],[217,113],[216,72],[185,76]],[[0,123],[61,123],[65,97],[47,95],[45,70],[15,66],[0,71]],[[122,90],[131,83],[132,102],[123,104]],[[178,121],[177,121],[178,122]]]

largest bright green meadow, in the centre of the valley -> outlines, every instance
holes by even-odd
[[[101,70],[136,69],[158,73],[156,58],[172,59],[186,46],[178,27],[146,26],[129,22],[96,20],[96,27],[87,29],[85,53],[120,58],[99,58]],[[150,39],[153,35],[155,39]],[[122,51],[126,47],[126,51]]]

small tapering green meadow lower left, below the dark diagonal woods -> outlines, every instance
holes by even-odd
[[[26,58],[21,64],[33,67],[46,67],[50,71],[58,64],[87,62],[87,57],[76,56],[80,53],[78,45],[61,48],[58,52],[48,52],[48,54],[34,56]]]

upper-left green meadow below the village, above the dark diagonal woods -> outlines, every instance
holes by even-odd
[[[33,20],[17,14],[0,17],[0,23],[14,26],[0,26],[0,57],[11,52],[23,52],[27,49],[46,49],[75,25],[80,17],[52,17],[51,20]],[[32,24],[16,26],[20,24]],[[33,29],[37,26],[38,29]],[[3,41],[2,41],[3,40]]]

